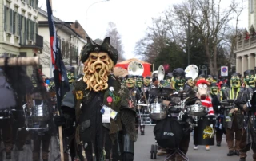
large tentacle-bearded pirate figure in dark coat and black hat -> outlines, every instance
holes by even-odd
[[[75,143],[81,160],[132,161],[136,112],[129,90],[110,74],[118,51],[110,45],[110,37],[101,45],[89,37],[87,42],[81,52],[84,77],[75,83],[74,105],[62,106],[64,121],[55,123],[70,128],[70,120],[76,121]]]

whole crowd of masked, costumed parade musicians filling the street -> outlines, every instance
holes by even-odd
[[[50,160],[50,139],[62,127],[65,160],[132,161],[138,134],[147,135],[142,114],[149,114],[158,143],[154,151],[166,160],[188,160],[193,132],[194,150],[205,146],[209,151],[215,141],[220,147],[226,135],[227,156],[245,161],[251,148],[256,161],[254,70],[244,71],[243,77],[233,73],[230,80],[192,77],[181,68],[164,79],[161,73],[115,76],[118,52],[110,37],[101,44],[87,41],[81,51],[83,74],[75,77],[74,68],[66,66],[70,91],[62,91],[61,107],[54,78],[36,67],[30,77],[18,67],[1,70],[0,137],[6,159],[14,159],[14,148],[23,151],[26,143],[33,143],[31,160]]]

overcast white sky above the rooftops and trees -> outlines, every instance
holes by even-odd
[[[125,57],[132,58],[137,41],[144,37],[151,18],[156,18],[166,8],[181,0],[52,0],[54,16],[65,22],[78,22],[93,39],[104,39],[108,22],[114,22],[122,36]],[[224,3],[231,0],[225,0]],[[93,6],[94,2],[98,2]],[[223,1],[222,1],[223,2]],[[247,2],[245,2],[247,6]],[[46,0],[39,0],[39,7],[46,10]],[[87,13],[86,10],[90,6]],[[247,28],[248,14],[246,10],[241,16],[239,27]],[[87,22],[87,27],[86,27]]]

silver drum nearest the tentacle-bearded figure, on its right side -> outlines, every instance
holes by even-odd
[[[162,103],[150,104],[150,119],[162,120],[167,115],[166,106]]]

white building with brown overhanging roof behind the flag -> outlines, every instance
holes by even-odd
[[[44,37],[43,51],[40,55],[42,62],[42,73],[46,77],[53,77],[52,70],[50,69],[50,33],[48,26],[48,17],[45,10],[38,9],[38,33]],[[65,65],[72,65],[78,69],[79,54],[86,40],[85,30],[76,22],[63,22],[62,20],[54,17],[54,24],[58,34],[58,44],[62,50],[62,59]]]

